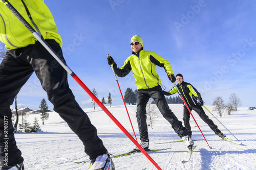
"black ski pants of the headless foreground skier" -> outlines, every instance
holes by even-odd
[[[64,61],[58,43],[51,39],[46,41]],[[107,150],[97,136],[96,128],[75,101],[68,85],[67,71],[37,41],[33,45],[8,51],[0,64],[1,165],[7,162],[8,165],[14,165],[23,161],[22,153],[14,139],[10,105],[33,72],[47,92],[48,99],[54,106],[53,110],[59,113],[78,135],[84,144],[84,151],[90,158],[106,154]]]

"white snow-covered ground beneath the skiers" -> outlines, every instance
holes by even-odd
[[[182,121],[183,105],[169,104],[170,108]],[[133,135],[124,106],[107,107],[119,122]],[[204,133],[206,140],[212,147],[210,149],[205,140],[195,141],[195,149],[191,160],[182,164],[186,158],[187,149],[183,142],[156,144],[154,142],[167,142],[180,139],[160,113],[153,126],[148,127],[150,136],[150,149],[171,148],[165,151],[149,153],[162,169],[256,169],[256,110],[238,108],[231,115],[220,117],[212,112],[212,106],[206,106],[220,122],[239,140],[242,145],[221,140],[192,112],[198,125]],[[139,140],[136,120],[136,106],[127,106],[136,136]],[[157,109],[158,110],[158,109]],[[98,130],[99,137],[105,147],[113,155],[122,154],[133,149],[134,144],[127,138],[115,123],[100,108],[84,109],[92,123]],[[219,129],[230,139],[234,138],[207,110],[206,114],[214,120]],[[26,119],[32,124],[34,118],[39,119],[39,114],[29,115]],[[190,125],[194,139],[203,139],[198,127],[191,117]],[[18,148],[25,159],[25,169],[88,169],[90,162],[76,164],[71,161],[89,160],[83,152],[83,145],[79,138],[70,130],[56,112],[50,113],[50,118],[45,125],[40,127],[44,133],[16,133],[15,138]],[[133,135],[134,136],[134,135]],[[116,169],[157,169],[142,153],[123,156],[113,159]]]

